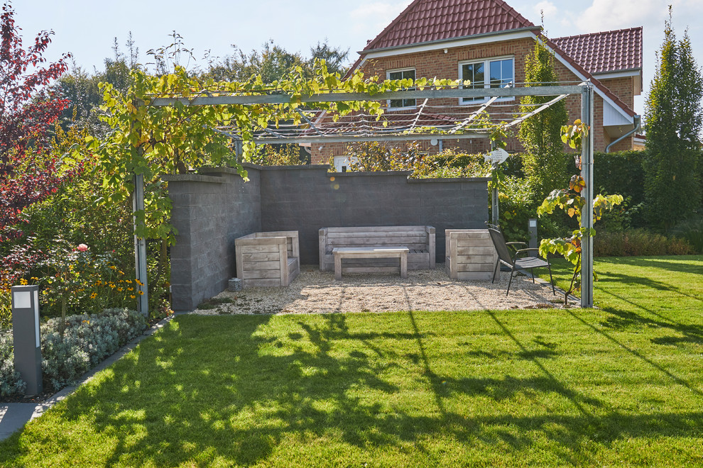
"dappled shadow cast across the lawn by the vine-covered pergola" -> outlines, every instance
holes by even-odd
[[[656,438],[657,434],[694,436],[703,426],[701,412],[632,416],[606,411],[601,401],[563,383],[540,362],[555,354],[554,343],[535,338],[544,351],[535,353],[496,314],[489,315],[518,347],[518,355],[533,362],[541,376],[437,374],[427,352],[432,335],[420,330],[413,313],[408,313],[407,331],[398,333],[355,332],[345,316],[334,314],[317,322],[299,321],[297,330],[276,335],[266,333],[271,316],[212,321],[180,317],[178,327],[169,326],[143,342],[132,359],[119,361],[99,384],[82,386],[56,409],[63,419],[77,426],[87,424],[94,433],[116,440],[107,458],[98,462],[107,466],[205,465],[217,459],[249,465],[271,457],[292,440],[325,441],[331,434],[361,450],[405,450],[401,447],[407,442],[423,450],[427,438],[438,435],[528,450],[535,443],[535,431],[565,447],[557,455],[563,463],[583,464],[596,462],[594,441],[607,445],[616,439]],[[212,333],[212,323],[224,333]],[[400,347],[378,347],[377,339],[396,340],[405,347],[415,344],[410,361],[423,369],[437,411],[389,411],[359,391],[387,395],[400,391],[380,376],[388,367],[407,362],[400,359],[407,355]],[[341,353],[337,340],[356,344]],[[383,359],[370,359],[369,353]],[[559,394],[571,401],[577,414],[470,415],[445,405],[447,397],[455,394],[501,401],[525,392]],[[44,443],[68,450],[75,443],[72,437],[57,433]],[[0,461],[26,450],[18,435],[11,441],[12,450],[0,455]],[[432,464],[430,452],[427,457]]]

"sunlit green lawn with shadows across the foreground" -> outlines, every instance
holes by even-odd
[[[702,465],[703,257],[596,270],[601,310],[180,316],[0,464]]]

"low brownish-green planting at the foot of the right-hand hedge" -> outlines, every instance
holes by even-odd
[[[602,231],[595,237],[596,257],[628,257],[634,255],[687,255],[691,246],[680,238],[667,238],[645,229],[622,232]]]

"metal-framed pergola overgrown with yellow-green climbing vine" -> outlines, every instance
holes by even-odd
[[[149,211],[157,211],[152,216],[165,219],[170,208],[165,197],[158,203],[145,204],[143,179],[145,175],[153,176],[149,160],[163,158],[168,161],[165,170],[182,172],[186,157],[197,153],[195,157],[204,160],[207,153],[216,164],[234,166],[246,177],[239,161],[242,155],[251,154],[257,144],[490,138],[498,128],[517,126],[570,95],[580,96],[581,120],[587,128],[593,127],[594,89],[590,82],[472,89],[462,83],[436,79],[378,83],[364,80],[359,72],[342,80],[339,75],[328,74],[324,65],[319,72],[312,80],[304,79],[300,73],[266,85],[260,79],[200,83],[177,68],[174,74],[164,77],[136,72],[136,85],[129,98],[120,96],[109,85],[104,87],[104,108],[109,111],[105,120],[115,131],[102,144],[95,141],[93,147],[104,155],[102,166],[110,174],[107,182],[124,186],[115,199],[124,198],[129,192],[133,201],[139,311],[148,313],[145,239],[148,235],[173,236],[168,227],[160,226],[150,232],[146,226]],[[514,102],[506,105],[499,101],[520,96],[552,99],[522,114],[516,114]],[[386,103],[396,99],[415,99],[418,106],[409,113],[383,113]],[[480,99],[481,104],[470,111],[457,104],[434,104],[464,99]],[[489,110],[497,109],[500,114],[501,106],[503,116],[511,116],[508,121],[490,117]],[[236,157],[230,157],[232,154]],[[582,192],[582,228],[587,233],[581,245],[582,307],[593,306],[592,165],[593,136],[588,132],[582,141],[581,175],[586,184]]]

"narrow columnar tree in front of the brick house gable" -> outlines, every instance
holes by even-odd
[[[554,69],[554,55],[543,43],[535,40],[535,48],[525,60],[525,86],[548,86],[557,84],[559,77]],[[525,96],[521,99],[521,112],[535,110],[555,96]],[[525,175],[541,201],[550,191],[565,184],[566,160],[563,157],[561,128],[567,123],[565,101],[526,119],[518,133],[525,155]]]

